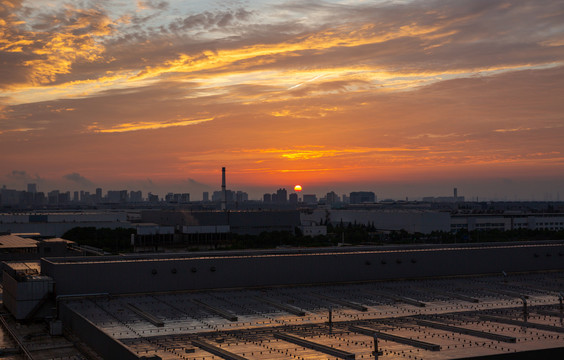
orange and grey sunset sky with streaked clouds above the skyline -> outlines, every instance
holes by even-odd
[[[0,186],[564,200],[564,1],[0,0]]]

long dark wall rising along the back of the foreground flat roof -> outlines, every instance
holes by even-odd
[[[201,258],[42,259],[55,293],[142,293],[375,281],[564,268],[564,242],[539,245],[410,247],[301,254],[239,253]],[[174,255],[171,255],[174,256]],[[118,261],[116,261],[118,260]]]

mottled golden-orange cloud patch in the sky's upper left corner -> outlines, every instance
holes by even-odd
[[[6,1],[0,6],[0,15],[5,16],[0,21],[0,51],[21,55],[13,58],[20,59],[14,70],[26,69],[25,83],[32,86],[70,74],[78,61],[100,60],[105,50],[100,39],[115,30],[115,24],[99,9],[67,5],[59,12],[45,14],[36,23],[36,19],[19,14],[20,7]],[[12,85],[17,83],[24,82]]]

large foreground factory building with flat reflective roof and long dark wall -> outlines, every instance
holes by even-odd
[[[52,334],[66,328],[104,359],[560,359],[564,351],[563,241],[5,264],[4,305],[14,317],[49,319]],[[23,335],[20,343],[36,346]]]

